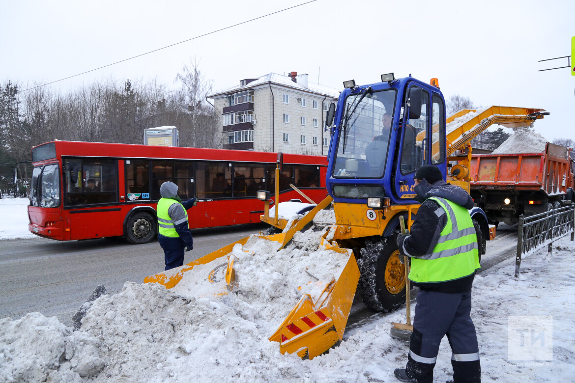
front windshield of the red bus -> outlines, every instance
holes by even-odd
[[[60,172],[57,164],[34,168],[30,206],[60,206]]]

